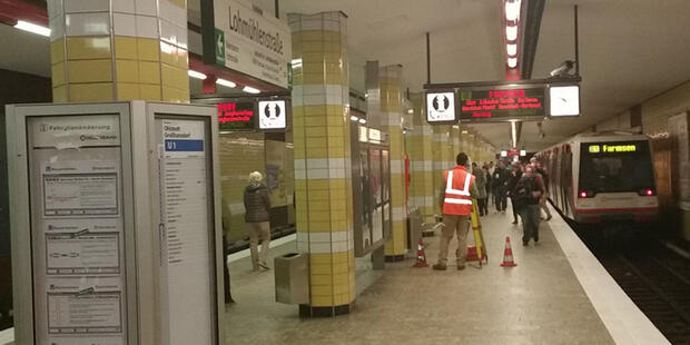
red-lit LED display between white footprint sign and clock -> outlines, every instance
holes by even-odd
[[[545,89],[460,91],[461,121],[496,121],[545,116]]]

